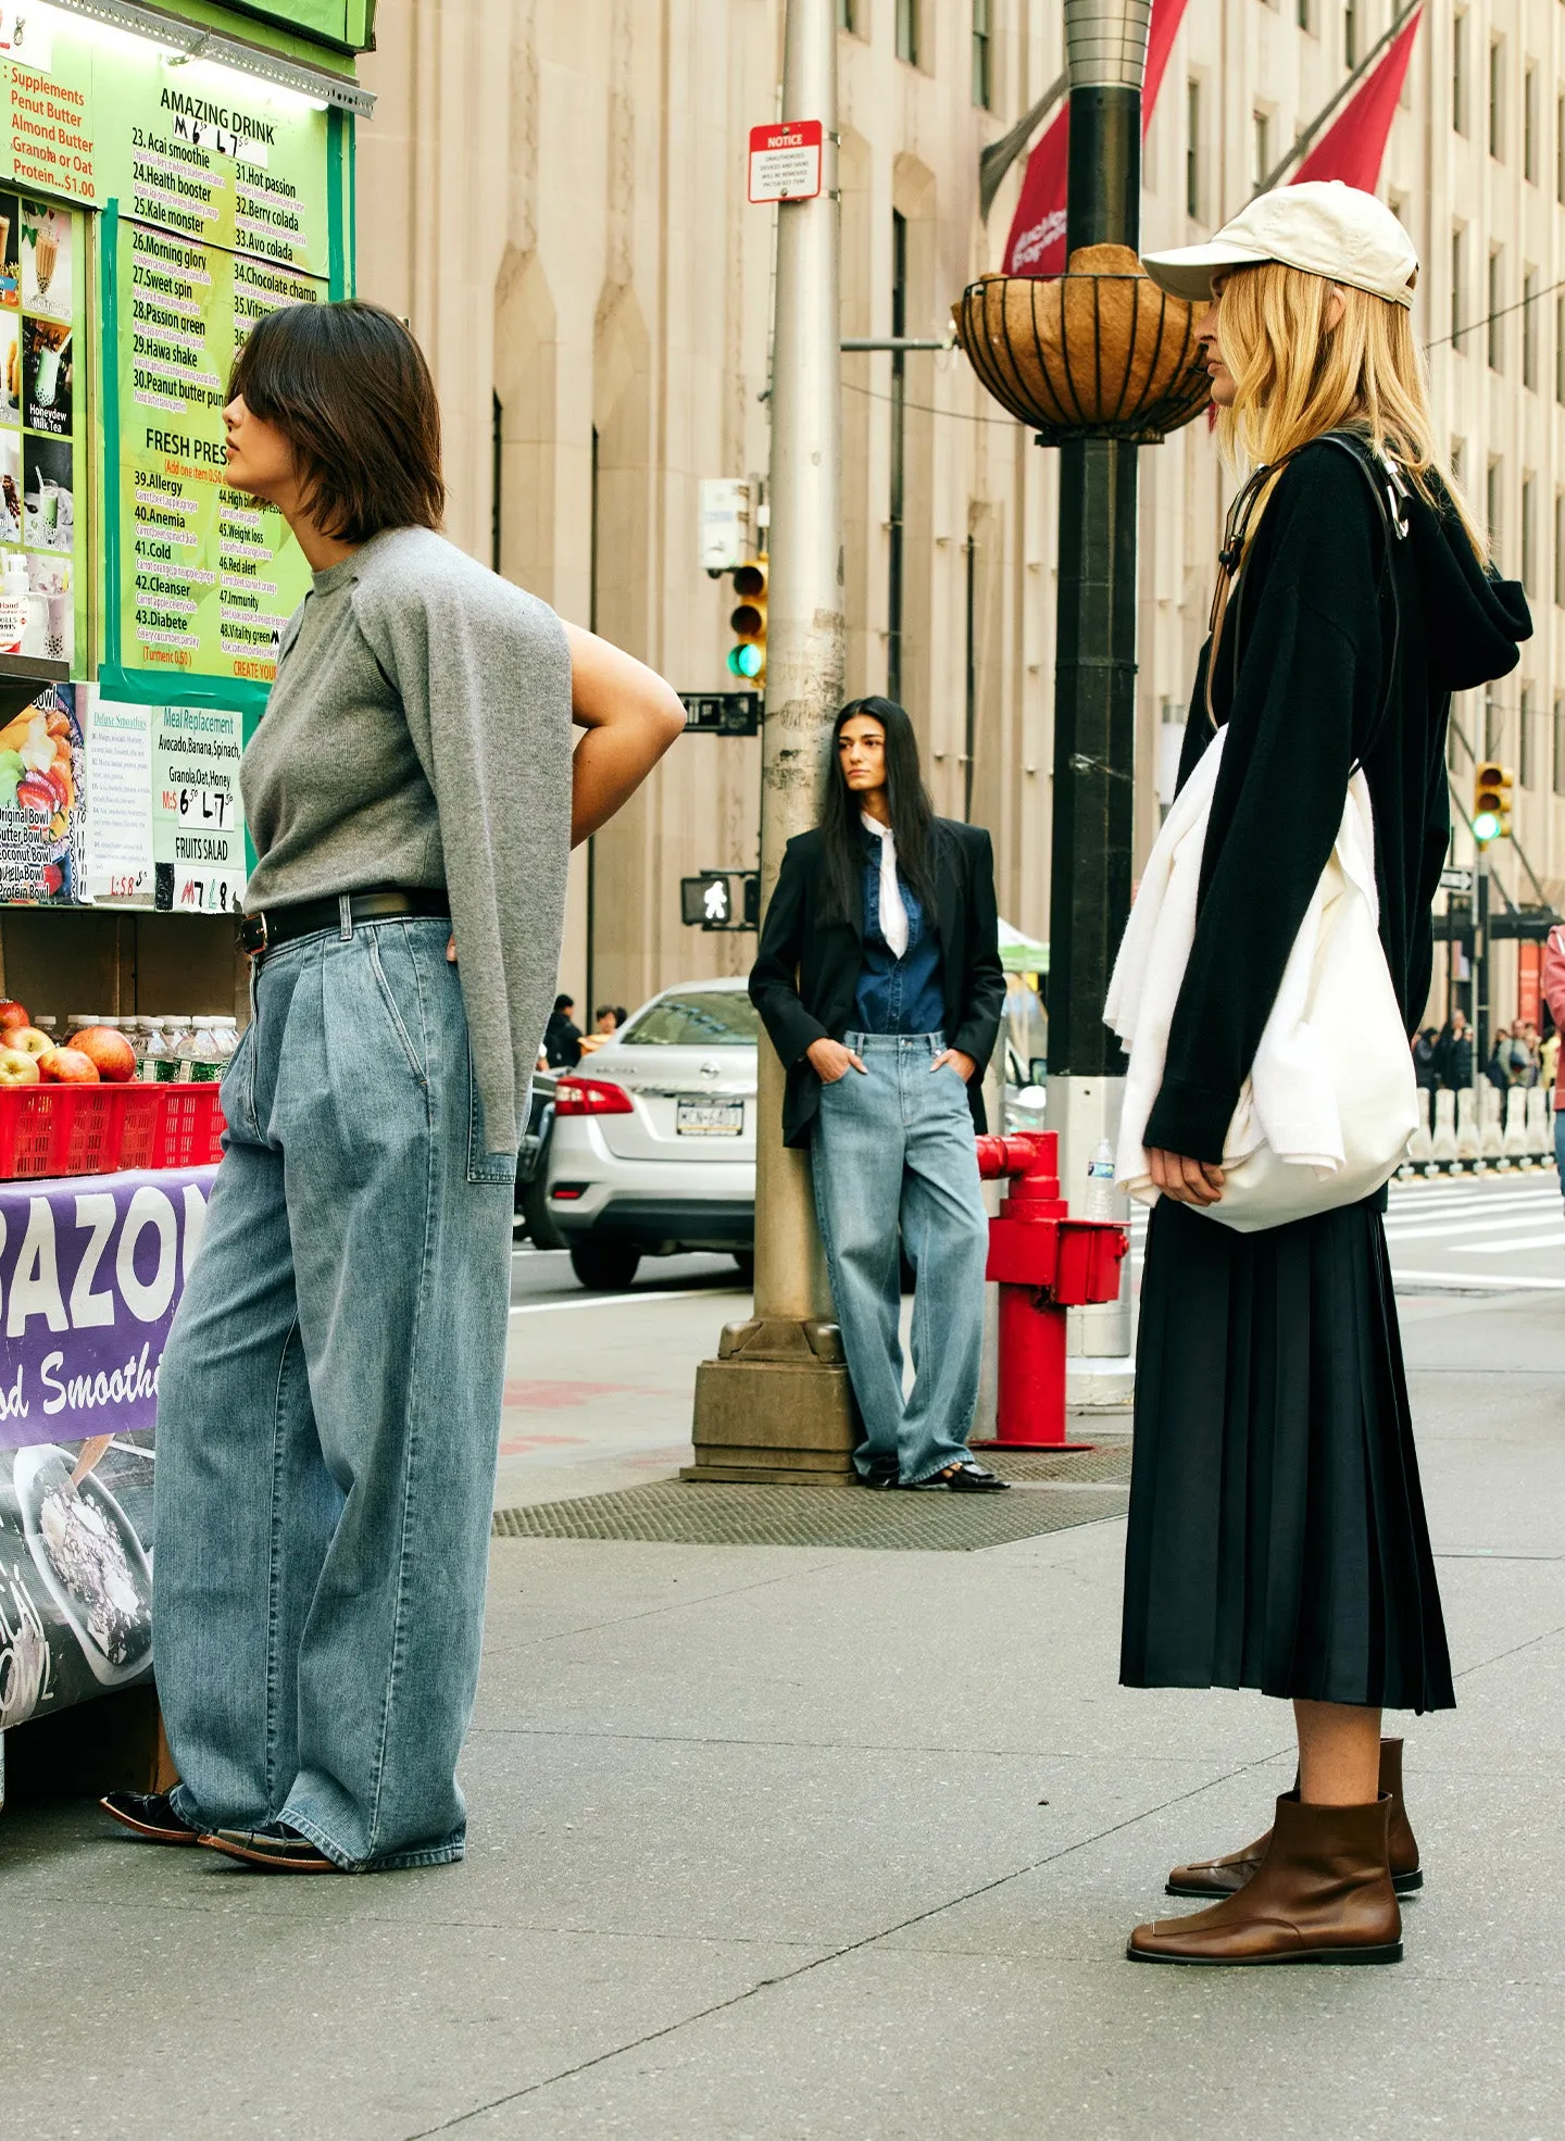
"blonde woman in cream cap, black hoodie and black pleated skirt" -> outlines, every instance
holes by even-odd
[[[1182,781],[1227,726],[1195,940],[1148,1122],[1148,1231],[1122,1681],[1293,1702],[1300,1775],[1274,1828],[1177,1867],[1207,1910],[1135,1961],[1396,1961],[1422,1880],[1381,1709],[1454,1702],[1413,1454],[1385,1193],[1237,1233],[1225,1130],[1351,771],[1374,807],[1381,942],[1404,1030],[1430,985],[1449,837],[1454,689],[1516,666],[1531,623],[1434,447],[1413,244],[1366,193],[1263,195],[1148,274],[1212,300],[1220,439],[1257,471],[1229,525]],[[1334,437],[1327,437],[1332,432]],[[1379,497],[1377,497],[1379,486]]]

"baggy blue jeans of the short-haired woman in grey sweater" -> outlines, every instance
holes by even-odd
[[[351,1869],[467,1828],[516,1156],[484,1150],[447,936],[345,921],[263,959],[158,1383],[173,1803]]]

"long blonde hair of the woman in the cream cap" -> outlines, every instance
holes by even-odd
[[[1342,317],[1327,328],[1332,291],[1342,298]],[[1235,383],[1233,407],[1218,411],[1231,462],[1263,467],[1323,430],[1359,430],[1400,462],[1430,505],[1439,510],[1441,490],[1449,497],[1473,550],[1488,561],[1488,542],[1434,445],[1424,351],[1404,304],[1263,261],[1233,270],[1222,285],[1218,345]]]

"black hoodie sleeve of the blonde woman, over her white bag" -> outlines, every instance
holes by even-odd
[[[1334,456],[1338,458],[1338,456]],[[1304,473],[1304,471],[1300,471]],[[1381,687],[1362,480],[1287,477],[1257,535],[1201,908],[1145,1143],[1220,1160]],[[1321,480],[1321,475],[1325,480]],[[1276,516],[1276,520],[1274,520]],[[1265,522],[1272,520],[1267,529]],[[1199,709],[1197,709],[1199,715]]]

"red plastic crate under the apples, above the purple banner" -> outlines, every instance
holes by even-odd
[[[218,1158],[216,1085],[0,1085],[0,1180],[201,1167]]]

